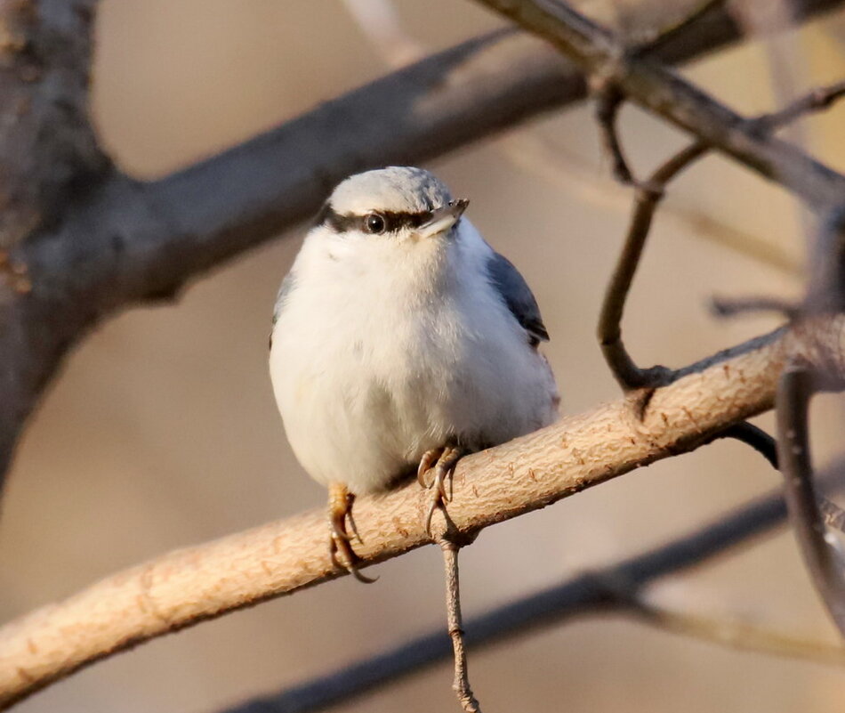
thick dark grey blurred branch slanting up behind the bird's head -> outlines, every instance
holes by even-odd
[[[806,0],[800,16],[841,5]],[[709,12],[658,55],[686,61],[740,36],[728,12]],[[16,247],[11,277],[0,280],[0,474],[63,357],[104,317],[173,298],[197,275],[312,215],[348,174],[430,160],[584,94],[580,72],[545,43],[495,32],[161,181],[112,171],[91,182],[77,171],[61,219],[50,215]]]

